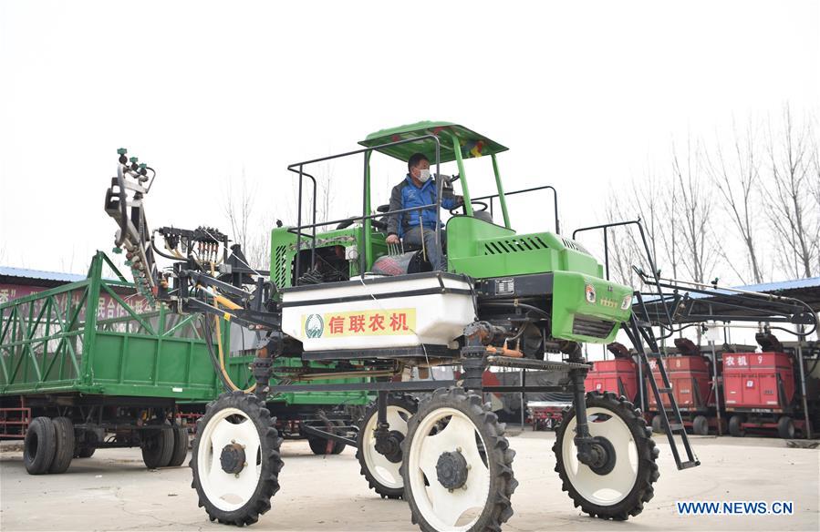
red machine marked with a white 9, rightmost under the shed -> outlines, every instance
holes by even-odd
[[[758,335],[763,353],[725,353],[723,389],[729,433],[744,435],[746,429],[776,429],[782,438],[794,438],[805,422],[793,419],[796,401],[794,359],[783,345]],[[779,348],[779,349],[778,349]]]

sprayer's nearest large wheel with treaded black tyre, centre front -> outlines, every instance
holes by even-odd
[[[441,388],[424,400],[401,443],[412,522],[425,532],[500,530],[518,486],[503,434],[479,394]]]

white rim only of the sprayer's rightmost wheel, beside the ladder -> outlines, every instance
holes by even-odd
[[[598,475],[578,462],[573,442],[577,417],[573,416],[566,425],[561,445],[564,470],[580,496],[598,506],[612,506],[629,495],[638,479],[638,445],[624,420],[611,410],[587,408],[586,418],[589,435],[607,438],[615,449],[615,467],[607,475]]]

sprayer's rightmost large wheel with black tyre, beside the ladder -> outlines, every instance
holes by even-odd
[[[611,455],[597,470],[578,461],[575,408],[567,409],[553,445],[561,489],[592,517],[637,516],[655,495],[652,484],[659,477],[659,450],[646,421],[626,398],[611,392],[586,394],[586,416],[589,434],[606,441]]]

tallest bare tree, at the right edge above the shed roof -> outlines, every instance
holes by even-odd
[[[770,167],[763,184],[766,212],[780,248],[781,266],[797,278],[820,271],[816,263],[820,217],[812,208],[811,193],[815,185],[811,180],[817,175],[812,140],[809,120],[795,124],[788,106],[784,108],[782,130],[775,134],[770,124]]]

